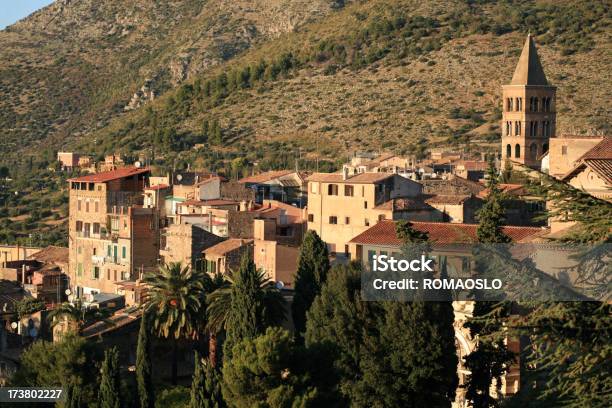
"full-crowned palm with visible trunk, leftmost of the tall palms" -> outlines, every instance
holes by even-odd
[[[160,337],[173,340],[172,384],[176,385],[178,340],[197,339],[205,323],[205,293],[210,278],[180,263],[161,265],[147,273],[146,312],[152,312],[152,328]]]

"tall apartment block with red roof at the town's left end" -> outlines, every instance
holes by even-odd
[[[148,169],[120,168],[70,179],[69,267],[73,295],[116,293],[159,256],[159,213],[143,207]]]

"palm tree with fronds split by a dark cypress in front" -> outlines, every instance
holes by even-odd
[[[236,280],[241,278],[243,275],[241,271],[244,272],[244,268],[248,268],[249,263],[252,263],[252,260],[244,257],[240,270],[237,273],[230,272],[230,274],[225,275],[224,281],[221,284],[218,283],[218,289],[210,294],[207,299],[206,330],[210,336],[209,359],[213,366],[216,364],[216,334],[228,329],[228,319],[232,310],[232,293],[236,288]],[[219,277],[216,279],[218,282]],[[265,276],[262,270],[255,271],[254,286],[260,293],[260,296],[257,297],[262,299],[262,307],[259,311],[262,320],[259,322],[261,326],[265,330],[265,327],[282,324],[285,320],[286,302],[281,292]]]

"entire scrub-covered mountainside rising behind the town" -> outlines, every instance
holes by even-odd
[[[559,133],[609,131],[609,2],[344,3],[56,2],[0,33],[3,150],[163,159],[204,143],[210,164],[495,142],[528,31]],[[155,100],[125,111],[147,79]]]

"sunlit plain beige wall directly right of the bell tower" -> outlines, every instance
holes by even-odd
[[[601,137],[555,137],[550,139],[548,173],[557,178],[566,175],[576,166],[576,161],[601,140]]]

